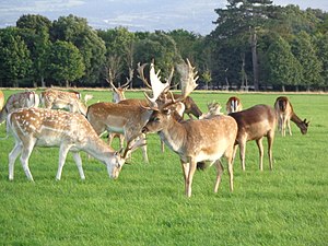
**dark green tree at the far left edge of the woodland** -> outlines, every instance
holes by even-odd
[[[27,46],[17,33],[16,27],[0,30],[0,81],[5,86],[17,87],[32,67]]]

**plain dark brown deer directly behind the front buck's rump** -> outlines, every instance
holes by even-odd
[[[274,109],[268,105],[256,105],[242,112],[231,113],[230,116],[238,125],[234,156],[239,145],[242,169],[245,171],[246,142],[251,140],[256,141],[259,150],[259,168],[263,169],[263,137],[268,139],[269,164],[272,169],[272,144],[277,122]]]

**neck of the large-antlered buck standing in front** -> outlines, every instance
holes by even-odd
[[[179,153],[184,147],[187,131],[181,124],[171,118],[159,136],[171,150]]]

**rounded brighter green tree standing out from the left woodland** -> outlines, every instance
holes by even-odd
[[[83,57],[72,43],[57,40],[51,46],[48,59],[49,74],[59,84],[65,82],[67,87],[70,85],[69,82],[84,74]]]

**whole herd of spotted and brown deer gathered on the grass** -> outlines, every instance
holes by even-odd
[[[233,190],[233,162],[239,147],[242,168],[245,171],[246,142],[255,140],[259,150],[259,168],[262,171],[262,139],[268,139],[268,155],[272,169],[272,143],[277,121],[282,136],[285,136],[290,120],[295,122],[303,134],[308,121],[301,120],[285,96],[274,103],[274,109],[268,105],[256,105],[243,110],[236,96],[226,103],[227,115],[222,114],[219,103],[208,104],[209,112],[202,114],[189,94],[197,86],[197,71],[189,60],[177,66],[180,74],[181,94],[173,94],[171,80],[161,81],[160,71],[150,65],[149,79],[143,74],[145,65],[138,66],[139,78],[152,90],[144,93],[144,99],[127,99],[126,83],[113,87],[113,102],[99,102],[86,107],[81,94],[48,89],[38,96],[35,92],[16,93],[8,97],[4,104],[0,91],[0,124],[7,121],[7,136],[12,132],[15,145],[9,154],[9,179],[14,176],[14,163],[19,155],[23,169],[30,180],[33,176],[28,168],[28,159],[34,147],[59,147],[59,164],[56,179],[61,178],[62,167],[69,151],[73,153],[80,177],[85,178],[80,151],[84,151],[103,162],[109,177],[117,178],[126,159],[138,148],[142,148],[148,162],[145,134],[156,132],[162,142],[178,154],[185,178],[185,192],[191,196],[192,177],[197,163],[209,161],[216,168],[214,191],[219,189],[223,166],[221,157],[227,160],[230,189]],[[129,81],[128,81],[129,82]],[[43,107],[38,107],[38,105]],[[67,110],[54,110],[54,108]],[[190,119],[184,120],[184,113]],[[198,119],[192,119],[196,117]],[[126,149],[114,150],[99,137],[108,132],[110,139],[120,134],[126,140]],[[124,150],[124,151],[122,151]]]

